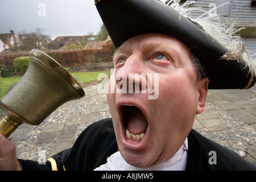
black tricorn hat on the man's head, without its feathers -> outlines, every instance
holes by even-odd
[[[226,59],[232,51],[207,34],[203,27],[158,0],[95,0],[98,13],[116,48],[141,34],[165,34],[183,42],[200,60],[209,89],[247,89],[256,82],[249,61]]]

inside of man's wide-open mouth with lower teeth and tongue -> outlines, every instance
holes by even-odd
[[[147,131],[148,123],[141,109],[137,106],[122,105],[121,113],[126,139],[142,140]]]

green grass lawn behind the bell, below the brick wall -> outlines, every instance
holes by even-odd
[[[110,71],[105,72],[77,72],[77,73],[71,73],[73,77],[76,78],[77,81],[80,83],[90,83],[91,81],[97,80],[98,75],[100,73],[106,73],[108,76],[110,76]],[[21,76],[16,77],[7,77],[2,78],[0,80],[0,98],[5,96],[5,94],[8,92],[8,89],[13,86],[16,82],[20,80]]]

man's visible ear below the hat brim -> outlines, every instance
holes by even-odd
[[[197,108],[196,108],[196,114],[203,113],[205,102],[207,99],[207,92],[208,92],[208,84],[209,80],[208,78],[203,78],[197,82]]]

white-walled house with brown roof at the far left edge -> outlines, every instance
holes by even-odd
[[[10,30],[9,34],[0,34],[0,52],[10,51],[19,46],[19,38]]]

